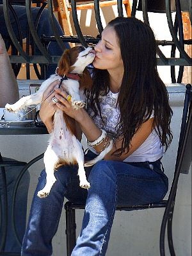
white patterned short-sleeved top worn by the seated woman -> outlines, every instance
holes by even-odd
[[[113,137],[118,137],[118,119],[120,117],[120,110],[116,107],[116,101],[118,99],[118,93],[114,94],[109,90],[105,96],[99,96],[100,112],[103,121],[98,114],[94,119],[94,123],[100,128],[106,130],[107,133]],[[98,111],[99,112],[99,111]],[[93,117],[92,109],[88,109],[88,114]],[[152,114],[153,117],[153,114]],[[96,153],[95,149],[88,146],[93,153]],[[124,162],[154,162],[163,156],[163,148],[159,137],[155,130],[150,133],[148,138],[136,149],[129,157],[125,158]]]

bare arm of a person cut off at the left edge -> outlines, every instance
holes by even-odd
[[[3,108],[6,103],[15,103],[18,99],[17,80],[0,34],[0,107]]]

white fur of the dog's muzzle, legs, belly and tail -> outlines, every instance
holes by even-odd
[[[93,62],[95,54],[91,47],[81,51],[77,57],[75,64],[73,65],[73,70],[71,73],[82,74],[85,67]],[[50,78],[45,80],[40,89],[35,94],[23,97],[19,99],[15,104],[6,104],[5,108],[12,112],[17,112],[20,108],[24,108],[29,105],[39,104],[42,102],[44,91],[49,87],[49,85],[56,80],[60,80],[61,77],[58,74],[52,75]],[[84,107],[84,101],[82,99],[82,93],[79,94],[79,81],[77,80],[64,80],[62,83],[63,89],[72,96],[72,106],[74,108]],[[76,139],[76,136],[67,128],[65,123],[63,112],[61,110],[56,110],[54,114],[54,130],[51,133],[51,138],[49,140],[49,145],[44,154],[44,164],[45,171],[47,174],[46,184],[44,189],[38,191],[38,196],[40,198],[45,198],[49,195],[51,187],[56,182],[54,176],[54,170],[56,166],[62,164],[78,164],[78,175],[80,180],[80,186],[88,189],[90,188],[90,183],[86,180],[86,175],[84,171],[84,166],[92,166],[99,160],[102,160],[104,155],[109,152],[112,148],[112,142],[109,147],[102,151],[98,157],[84,164],[84,153],[81,143]]]

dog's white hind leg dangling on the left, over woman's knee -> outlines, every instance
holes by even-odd
[[[51,191],[52,185],[54,184],[54,182],[56,182],[56,178],[54,176],[54,166],[57,161],[58,157],[56,156],[54,151],[52,151],[51,147],[48,146],[44,154],[45,171],[47,174],[46,184],[42,190],[38,191],[37,195],[39,198],[47,197],[49,195],[49,192]]]

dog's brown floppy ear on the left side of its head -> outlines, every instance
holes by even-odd
[[[60,58],[57,74],[59,76],[64,76],[64,74],[68,74],[69,69],[70,69],[70,53],[69,53],[69,49],[67,49]]]

